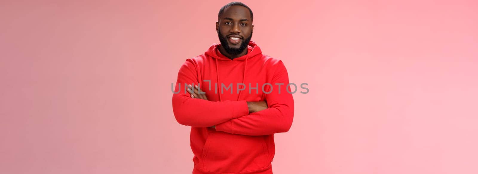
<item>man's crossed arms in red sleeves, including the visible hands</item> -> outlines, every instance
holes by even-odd
[[[287,70],[282,61],[278,61],[271,84],[289,84]],[[178,73],[173,95],[173,112],[176,120],[192,127],[215,126],[217,131],[242,135],[269,135],[286,132],[293,120],[293,98],[286,87],[273,88],[266,94],[265,101],[208,101],[204,94],[194,91],[184,92],[179,84],[198,82],[195,63],[188,59]],[[183,91],[182,91],[183,90]],[[267,102],[266,102],[267,101]]]

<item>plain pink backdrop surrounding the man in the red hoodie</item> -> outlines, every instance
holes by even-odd
[[[0,173],[187,174],[171,83],[228,1],[0,1]],[[244,1],[282,59],[274,174],[477,174],[478,1]]]

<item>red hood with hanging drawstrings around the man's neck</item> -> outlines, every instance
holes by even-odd
[[[242,60],[244,60],[244,62],[245,62],[244,73],[242,74],[242,84],[244,84],[244,81],[246,80],[247,60],[256,57],[256,55],[262,54],[261,48],[259,48],[259,46],[257,46],[256,43],[254,43],[252,41],[249,41],[249,44],[247,45],[247,54],[243,55],[243,56],[240,56],[240,57],[237,57],[237,58],[234,58],[234,59],[231,60],[231,59],[229,59],[228,57],[226,57],[225,55],[223,55],[219,52],[219,49],[218,49],[219,46],[221,46],[221,44],[213,44],[213,45],[211,45],[211,47],[209,47],[209,49],[207,49],[206,53],[204,53],[206,55],[211,56],[216,61],[217,84],[220,84],[219,66],[217,65],[218,60],[221,60],[221,61],[241,61],[241,62],[242,62]],[[238,63],[241,63],[241,62],[238,62]],[[242,91],[239,92],[238,100],[239,100],[241,94],[242,94]],[[220,92],[219,92],[219,101],[222,101]]]

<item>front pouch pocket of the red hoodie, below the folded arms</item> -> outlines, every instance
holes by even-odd
[[[219,173],[239,173],[270,165],[263,136],[214,132],[203,150],[204,168]]]

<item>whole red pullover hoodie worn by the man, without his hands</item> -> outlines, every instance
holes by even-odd
[[[293,120],[287,70],[254,42],[246,55],[233,60],[219,46],[186,60],[173,94],[176,120],[191,126],[193,174],[272,174],[273,134],[288,131]],[[185,91],[185,84],[198,83],[208,100]],[[246,101],[267,101],[268,109],[249,113]]]

